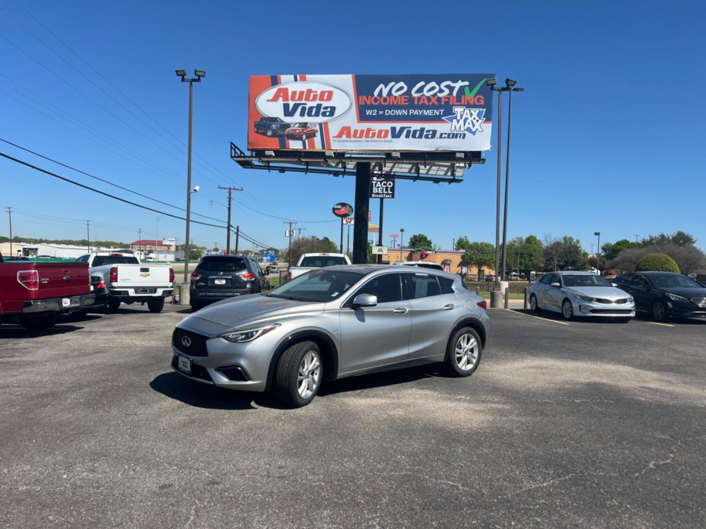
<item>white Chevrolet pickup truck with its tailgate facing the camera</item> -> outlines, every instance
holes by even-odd
[[[147,302],[150,312],[164,308],[164,298],[174,293],[174,269],[169,265],[146,265],[131,252],[93,252],[78,257],[88,263],[91,276],[105,283],[106,308],[118,310],[120,303]]]

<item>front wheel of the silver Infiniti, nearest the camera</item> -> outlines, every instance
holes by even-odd
[[[318,392],[323,378],[321,353],[313,341],[295,343],[282,353],[275,372],[277,399],[287,406],[306,406]]]

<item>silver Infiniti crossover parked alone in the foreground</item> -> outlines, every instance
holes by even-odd
[[[467,377],[489,343],[484,306],[447,272],[316,269],[186,317],[172,334],[172,368],[229,389],[273,388],[289,406],[311,402],[324,378],[383,366],[443,362],[451,375]]]

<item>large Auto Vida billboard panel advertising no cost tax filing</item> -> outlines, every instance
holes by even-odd
[[[494,77],[252,75],[248,149],[489,150]]]

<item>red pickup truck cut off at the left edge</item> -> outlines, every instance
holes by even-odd
[[[0,322],[39,331],[52,327],[57,314],[94,302],[85,263],[5,261],[0,254]]]

